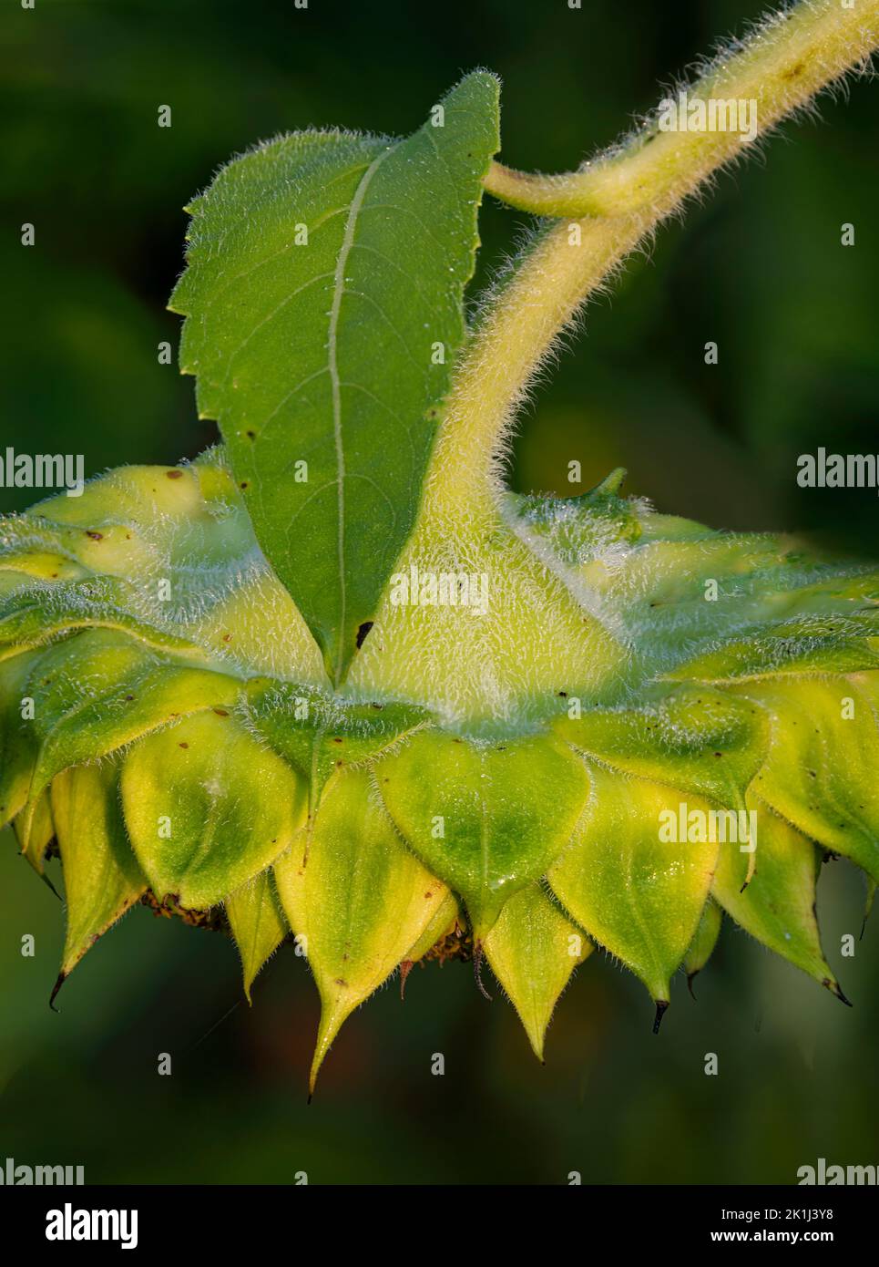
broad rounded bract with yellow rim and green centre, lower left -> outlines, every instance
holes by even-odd
[[[189,910],[215,906],[265,870],[305,818],[305,786],[222,710],[133,748],[125,826],[149,887]]]

